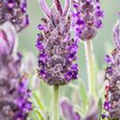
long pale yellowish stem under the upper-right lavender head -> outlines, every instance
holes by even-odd
[[[90,95],[95,96],[95,78],[94,78],[94,53],[92,40],[85,42],[86,58],[87,58],[87,71],[89,80],[89,92]]]

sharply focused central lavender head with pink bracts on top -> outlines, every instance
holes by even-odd
[[[47,17],[38,25],[38,75],[49,85],[64,85],[77,79],[78,75],[78,66],[73,64],[78,45],[71,37],[70,2],[66,0],[64,9],[59,0],[54,0],[50,9],[43,0],[40,3]]]

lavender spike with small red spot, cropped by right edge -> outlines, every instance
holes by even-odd
[[[106,101],[104,109],[108,112],[110,119],[120,119],[120,21],[114,29],[114,42],[116,48],[111,56],[107,55],[109,66],[106,69]],[[109,59],[109,60],[108,60]]]

